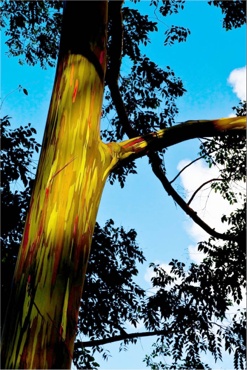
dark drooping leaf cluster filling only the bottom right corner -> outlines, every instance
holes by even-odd
[[[204,243],[207,258],[200,265],[192,263],[188,271],[177,260],[170,263],[171,275],[153,266],[153,287],[158,290],[149,298],[148,320],[144,321],[149,327],[154,310],[156,327],[159,323],[166,335],[158,337],[153,351],[143,360],[151,369],[209,369],[202,353],[210,352],[216,361],[221,360],[223,343],[224,350],[234,352],[235,369],[244,369],[238,366],[244,366],[245,361],[246,312],[237,311],[229,319],[228,310],[233,305],[229,293],[237,304],[243,298],[240,287],[246,286],[245,274],[243,268],[236,270],[238,263],[229,268],[232,259],[228,266],[222,263],[226,248],[234,246],[221,249],[209,242],[206,248]],[[236,246],[234,250],[236,257]],[[243,263],[242,258],[238,262]]]

